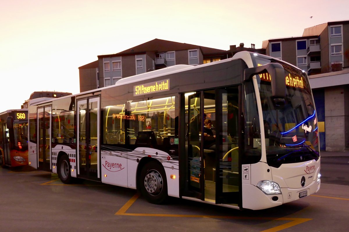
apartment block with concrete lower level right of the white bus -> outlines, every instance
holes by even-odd
[[[302,36],[269,39],[262,48],[309,75],[320,149],[349,151],[349,21],[309,27]]]

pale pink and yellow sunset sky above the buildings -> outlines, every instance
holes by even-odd
[[[348,0],[1,0],[0,112],[20,108],[34,91],[79,93],[78,67],[155,38],[261,48],[349,20],[348,9]]]

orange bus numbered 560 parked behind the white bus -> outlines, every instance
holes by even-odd
[[[28,165],[28,109],[0,113],[0,166]]]

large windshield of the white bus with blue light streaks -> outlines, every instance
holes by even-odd
[[[260,58],[257,65],[269,63]],[[311,89],[305,73],[281,63],[285,70],[285,104],[277,105],[272,97],[269,74],[257,75],[262,106],[267,162],[280,167],[318,159],[318,123]]]

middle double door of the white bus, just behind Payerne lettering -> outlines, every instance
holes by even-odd
[[[88,97],[77,101],[77,177],[99,181],[100,99]]]

